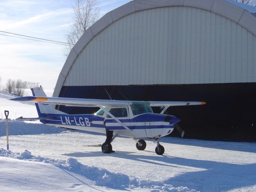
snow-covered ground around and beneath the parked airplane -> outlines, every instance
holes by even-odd
[[[37,112],[13,97],[0,92],[0,191],[256,191],[256,143],[165,137],[158,156],[151,140],[138,151],[133,140],[119,137],[116,152],[103,154],[88,145],[102,144],[104,134],[16,122]]]

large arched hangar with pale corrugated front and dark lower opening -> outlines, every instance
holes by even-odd
[[[168,109],[186,138],[256,141],[256,8],[233,0],[134,0],[108,12],[71,50],[53,96],[108,94],[204,101]]]

